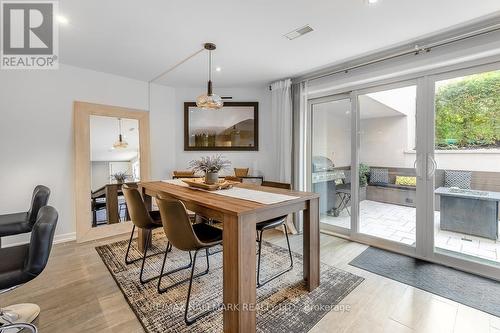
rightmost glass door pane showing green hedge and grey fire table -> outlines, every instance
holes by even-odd
[[[434,246],[500,265],[500,71],[435,83]]]

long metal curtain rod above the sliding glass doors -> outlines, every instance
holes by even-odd
[[[490,25],[488,27],[480,28],[480,29],[477,29],[477,30],[474,30],[474,31],[471,31],[471,32],[468,32],[468,33],[463,33],[463,34],[460,34],[460,35],[457,35],[457,36],[454,36],[454,37],[445,38],[445,39],[437,41],[437,42],[425,44],[424,46],[419,46],[418,42],[417,42],[415,44],[415,46],[413,48],[411,48],[411,49],[407,49],[407,50],[404,50],[404,51],[396,52],[394,54],[390,54],[390,55],[383,56],[383,57],[380,57],[380,58],[376,58],[376,59],[373,59],[373,60],[365,61],[365,62],[362,62],[362,63],[357,64],[357,65],[352,65],[352,66],[348,66],[348,67],[345,67],[345,68],[337,69],[337,70],[334,70],[332,72],[328,72],[328,73],[324,73],[324,74],[318,74],[318,75],[311,76],[311,77],[305,76],[304,79],[301,79],[300,81],[314,81],[314,80],[322,79],[322,78],[325,78],[325,77],[328,77],[328,76],[333,76],[333,75],[340,74],[340,73],[347,73],[347,72],[349,72],[351,70],[354,70],[354,69],[366,67],[366,66],[369,66],[369,65],[374,65],[374,64],[377,64],[377,63],[380,63],[380,62],[384,62],[384,61],[387,61],[387,60],[392,60],[392,59],[403,57],[403,56],[410,55],[410,54],[418,55],[418,54],[420,54],[422,52],[429,53],[429,52],[431,52],[431,50],[433,48],[437,48],[437,47],[441,47],[441,46],[446,46],[446,45],[449,45],[449,44],[452,44],[452,43],[456,43],[456,42],[460,42],[460,41],[463,41],[463,40],[466,40],[466,39],[470,39],[470,38],[474,38],[474,37],[486,35],[488,33],[495,32],[495,31],[500,31],[500,23],[496,23],[496,24]]]

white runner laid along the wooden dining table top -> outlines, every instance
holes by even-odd
[[[162,180],[162,182],[177,185],[177,186],[189,187],[188,184],[184,183],[180,179],[168,179],[168,180]],[[214,194],[218,194],[218,195],[224,195],[226,197],[232,197],[232,198],[236,198],[236,199],[243,199],[243,200],[258,202],[258,203],[261,203],[264,205],[272,205],[275,203],[299,198],[299,197],[294,197],[294,196],[285,195],[285,194],[250,190],[247,188],[242,188],[242,187],[237,187],[237,186],[226,189],[226,190],[217,190],[217,191],[206,191],[206,190],[202,190],[202,189],[195,189],[195,190],[214,193]]]

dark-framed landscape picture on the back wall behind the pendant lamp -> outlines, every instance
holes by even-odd
[[[259,150],[259,103],[225,102],[219,110],[184,103],[184,150]]]

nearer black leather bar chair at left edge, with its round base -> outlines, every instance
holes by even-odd
[[[58,214],[50,206],[40,208],[28,244],[0,249],[0,294],[36,278],[47,265]],[[37,332],[31,324],[40,308],[35,304],[19,304],[0,308],[0,333],[25,329]],[[25,331],[23,331],[25,332]]]

